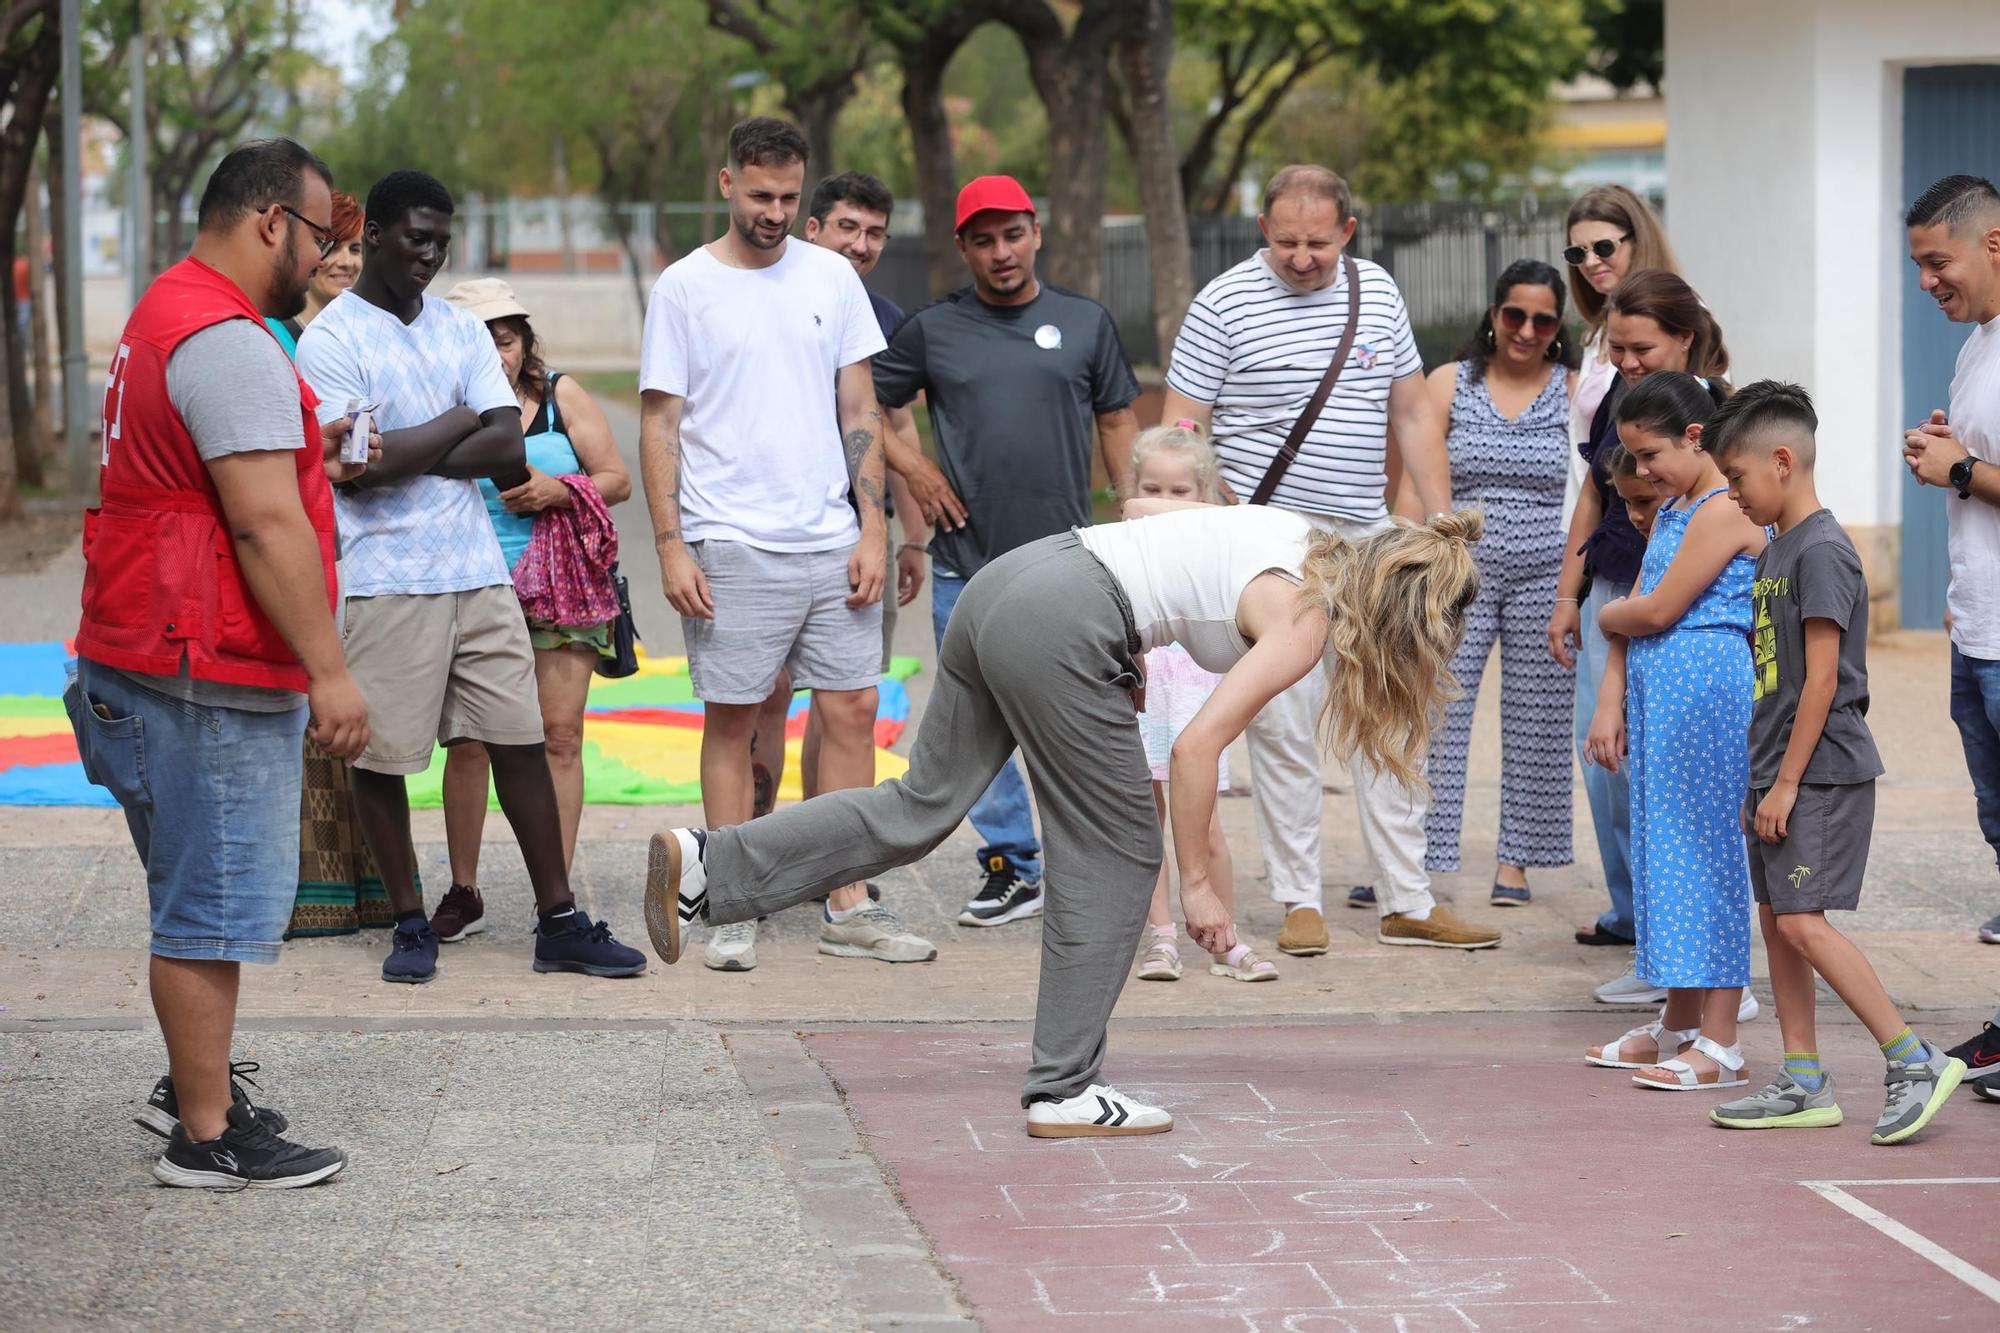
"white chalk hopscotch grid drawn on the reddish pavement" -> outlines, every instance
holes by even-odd
[[[1464,1177],[1344,1179],[1336,1149],[1426,1147],[1404,1111],[1282,1113],[1250,1083],[1152,1083],[1132,1095],[1174,1107],[1172,1145],[1076,1141],[1060,1161],[1076,1177],[1002,1185],[1020,1229],[1064,1233],[1076,1245],[1044,1253],[1122,1263],[1030,1265],[1034,1299],[1052,1319],[1146,1327],[1162,1317],[1214,1321],[1248,1333],[1430,1333],[1508,1327],[1538,1307],[1610,1305],[1576,1265],[1514,1253],[1506,1213]],[[968,1123],[980,1151],[1020,1145],[1018,1121]],[[1192,1133],[1190,1133],[1192,1131]],[[1050,1161],[1044,1155],[1042,1161]],[[1390,1239],[1436,1223],[1480,1257],[1434,1257]],[[1436,1235],[1430,1227],[1426,1235]],[[1146,1255],[1146,1261],[1132,1259]],[[1550,1311],[1552,1313],[1552,1311]],[[1176,1327],[1180,1327],[1176,1323]]]

